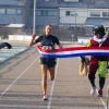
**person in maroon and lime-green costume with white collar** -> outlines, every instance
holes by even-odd
[[[94,28],[94,37],[89,39],[86,44],[86,47],[109,47],[109,37],[105,34],[105,28],[102,25],[96,26]],[[85,61],[85,57],[81,57],[82,62]],[[99,77],[99,89],[98,89],[98,97],[102,96],[102,89],[105,86],[106,74],[107,74],[107,63],[109,57],[107,56],[90,56],[89,60],[89,73],[88,80],[92,85],[90,95],[95,95],[96,93],[96,84],[95,84],[95,74],[98,71]]]

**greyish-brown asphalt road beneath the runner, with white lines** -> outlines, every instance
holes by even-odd
[[[78,74],[78,58],[58,59],[55,81],[48,76],[49,100],[43,101],[39,52],[32,47],[15,55],[0,64],[0,109],[106,109],[109,74],[104,97],[90,96],[90,84]]]

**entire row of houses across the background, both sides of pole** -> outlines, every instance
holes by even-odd
[[[72,31],[86,28],[89,35],[94,25],[109,28],[109,0],[36,0],[36,10],[34,1],[0,0],[0,25],[15,23],[33,28],[35,11],[36,28],[52,24]]]

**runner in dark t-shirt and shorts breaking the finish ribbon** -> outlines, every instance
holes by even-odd
[[[56,44],[60,49],[62,49],[62,45],[60,44],[59,39],[51,35],[52,34],[52,26],[46,25],[45,34],[39,36],[35,39],[36,35],[33,34],[33,39],[31,41],[29,47],[34,46],[37,43],[40,43],[41,48],[51,49],[56,48]],[[55,65],[56,65],[56,58],[43,58],[40,57],[40,69],[41,69],[41,88],[44,93],[43,100],[48,100],[47,97],[47,72],[49,73],[50,80],[55,80]]]

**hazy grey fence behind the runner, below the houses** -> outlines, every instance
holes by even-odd
[[[44,27],[36,28],[37,36],[43,35]],[[0,38],[8,38],[9,35],[32,35],[33,29],[27,28],[8,28],[0,27]],[[78,37],[90,37],[90,34],[86,34],[85,28],[71,28],[71,27],[53,27],[52,34],[57,36],[61,41],[74,41]]]

